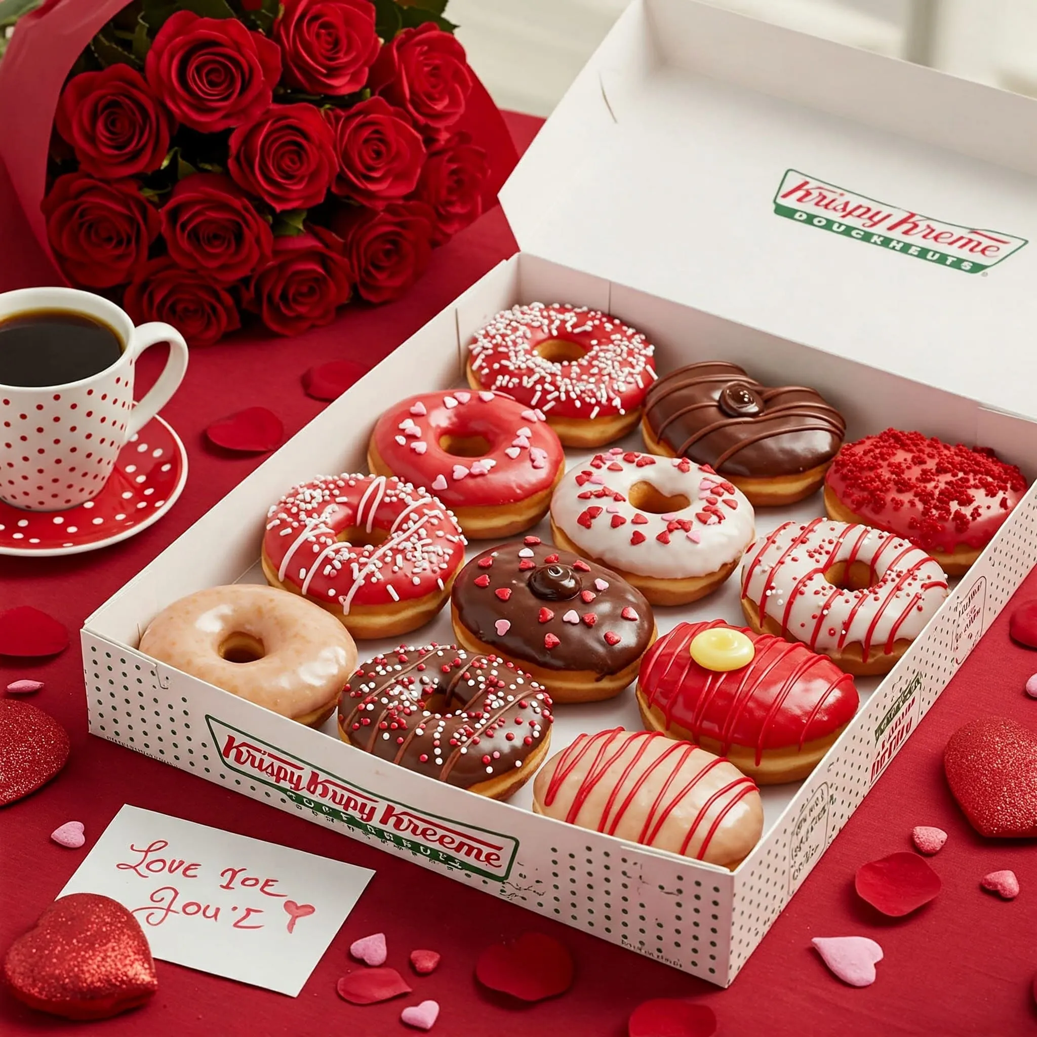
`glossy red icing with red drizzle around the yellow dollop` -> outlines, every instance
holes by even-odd
[[[722,754],[732,746],[754,749],[759,765],[764,750],[802,747],[849,723],[859,701],[852,677],[802,644],[734,627],[753,641],[752,663],[724,673],[699,666],[692,641],[728,625],[679,623],[645,654],[638,683],[667,727],[712,738]]]

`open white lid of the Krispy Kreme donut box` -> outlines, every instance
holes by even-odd
[[[1037,415],[1037,101],[635,0],[501,198],[527,252]]]

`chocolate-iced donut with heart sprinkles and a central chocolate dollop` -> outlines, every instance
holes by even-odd
[[[618,695],[655,640],[639,590],[538,536],[473,558],[454,581],[451,618],[461,647],[502,656],[556,702]]]

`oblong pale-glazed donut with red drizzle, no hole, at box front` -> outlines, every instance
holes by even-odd
[[[656,731],[581,734],[533,783],[533,810],[734,868],[759,842],[759,789],[733,763]]]

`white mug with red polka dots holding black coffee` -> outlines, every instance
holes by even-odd
[[[58,310],[108,325],[122,353],[104,370],[65,385],[0,383],[0,500],[28,511],[61,511],[96,497],[119,451],[169,402],[188,366],[187,342],[175,328],[159,323],[135,328],[101,296],[76,288],[0,293],[0,325],[21,313]],[[135,404],[137,358],[159,342],[169,343],[169,360]]]

